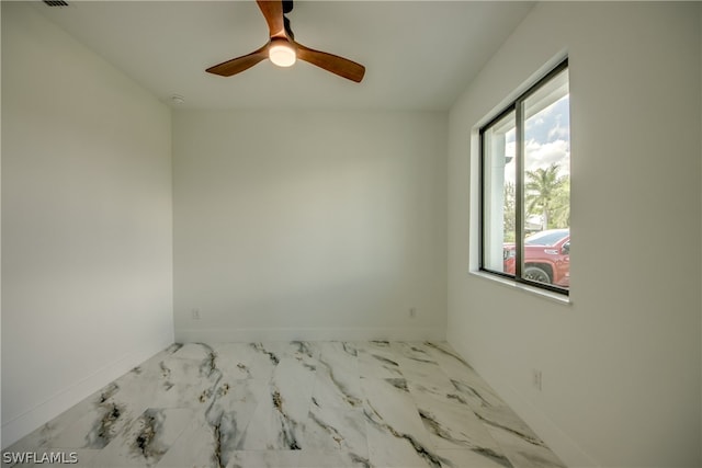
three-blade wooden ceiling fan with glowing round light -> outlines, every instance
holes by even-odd
[[[285,16],[293,10],[292,0],[257,0],[257,3],[268,23],[269,42],[249,55],[210,67],[207,72],[231,77],[267,58],[279,67],[290,67],[299,58],[356,83],[361,82],[365,73],[364,66],[343,57],[305,47],[295,41],[290,20]]]

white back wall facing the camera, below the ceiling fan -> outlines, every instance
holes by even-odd
[[[176,112],[177,339],[443,338],[446,117]]]

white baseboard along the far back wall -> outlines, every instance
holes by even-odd
[[[176,329],[179,343],[250,343],[258,341],[444,341],[445,330],[427,328]]]

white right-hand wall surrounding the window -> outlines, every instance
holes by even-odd
[[[537,4],[451,111],[448,339],[571,467],[702,464],[698,9]],[[565,52],[570,305],[468,273],[476,126]]]

